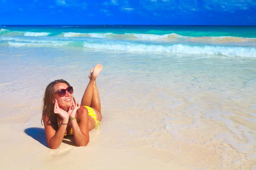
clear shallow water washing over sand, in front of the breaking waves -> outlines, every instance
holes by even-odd
[[[126,125],[125,138],[170,151],[173,140],[219,141],[212,150],[256,159],[256,58],[1,46],[0,118],[40,121],[44,89],[55,79],[70,82],[80,100],[96,63],[104,65],[97,82],[102,111]],[[29,109],[36,111],[26,115]]]

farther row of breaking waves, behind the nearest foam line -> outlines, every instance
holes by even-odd
[[[0,34],[3,36],[51,36],[49,32],[24,32],[24,31],[9,31],[6,29],[1,29]],[[54,34],[52,34],[54,35]],[[117,38],[123,40],[149,40],[149,41],[163,41],[163,42],[187,42],[187,43],[207,43],[207,44],[236,44],[236,45],[256,45],[256,38],[246,38],[246,37],[232,37],[232,36],[221,36],[221,37],[193,37],[184,36],[175,33],[171,34],[138,34],[138,33],[124,33],[124,34],[114,34],[114,33],[79,33],[79,32],[63,32],[58,35],[58,37],[93,37],[93,38]]]

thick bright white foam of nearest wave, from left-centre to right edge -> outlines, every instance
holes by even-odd
[[[190,45],[145,45],[145,44],[107,44],[84,42],[85,48],[106,49],[130,52],[159,52],[176,54],[224,55],[228,57],[256,57],[256,48]]]

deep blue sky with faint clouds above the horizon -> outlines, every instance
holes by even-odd
[[[0,0],[1,25],[256,25],[256,0]]]

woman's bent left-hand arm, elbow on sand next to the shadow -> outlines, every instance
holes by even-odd
[[[67,125],[62,125],[55,131],[52,126],[50,120],[46,116],[46,112],[43,112],[43,122],[44,122],[44,130],[45,136],[47,139],[47,144],[51,149],[58,149],[60,147],[61,142],[64,138]],[[62,121],[63,124],[68,123],[68,114],[67,118]]]

